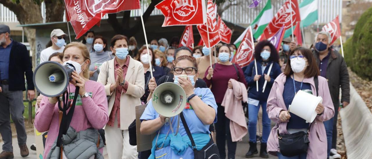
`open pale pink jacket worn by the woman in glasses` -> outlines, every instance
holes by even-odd
[[[328,89],[327,80],[321,76],[319,79],[319,96],[323,98],[324,111],[322,115],[318,115],[309,133],[309,148],[307,152],[307,159],[326,159],[327,158],[327,136],[325,134],[325,128],[323,121],[327,121],[334,116],[334,107],[332,104],[331,95]],[[269,118],[276,123],[270,132],[269,139],[267,140],[267,152],[276,156],[276,152],[279,152],[279,141],[276,135],[276,129],[279,127],[280,134],[289,134],[287,132],[287,123],[280,121],[279,113],[282,110],[287,110],[283,101],[283,90],[286,81],[286,76],[282,73],[274,81],[273,87],[271,88],[269,98],[267,99],[267,114]],[[315,95],[315,84],[314,78],[305,78],[304,83],[311,84],[311,90]],[[292,88],[291,88],[292,89]]]

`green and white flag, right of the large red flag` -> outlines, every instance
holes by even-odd
[[[300,16],[302,27],[307,27],[318,20],[318,0],[304,0],[299,5]],[[293,26],[295,29],[296,26]],[[288,29],[284,38],[289,37],[292,34],[292,30]]]

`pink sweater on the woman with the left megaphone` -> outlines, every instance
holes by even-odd
[[[77,132],[88,128],[102,129],[109,120],[107,113],[107,98],[103,85],[95,81],[86,81],[85,90],[92,93],[91,97],[82,98],[82,106],[76,106],[70,126]],[[75,92],[75,86],[70,84],[70,92]],[[44,158],[47,157],[53,143],[57,139],[59,114],[57,104],[50,104],[48,97],[43,97],[40,108],[36,112],[33,123],[39,132],[48,132],[45,142]],[[103,149],[100,149],[102,152]]]

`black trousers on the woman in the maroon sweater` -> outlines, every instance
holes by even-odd
[[[217,123],[215,123],[216,130],[216,144],[219,150],[221,159],[226,158],[225,145],[227,142],[228,158],[235,159],[235,151],[237,142],[232,142],[230,133],[230,119],[225,116],[225,107],[221,103],[217,103]]]

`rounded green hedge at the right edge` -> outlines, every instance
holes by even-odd
[[[358,20],[353,36],[344,44],[345,61],[359,77],[372,80],[372,7]]]

